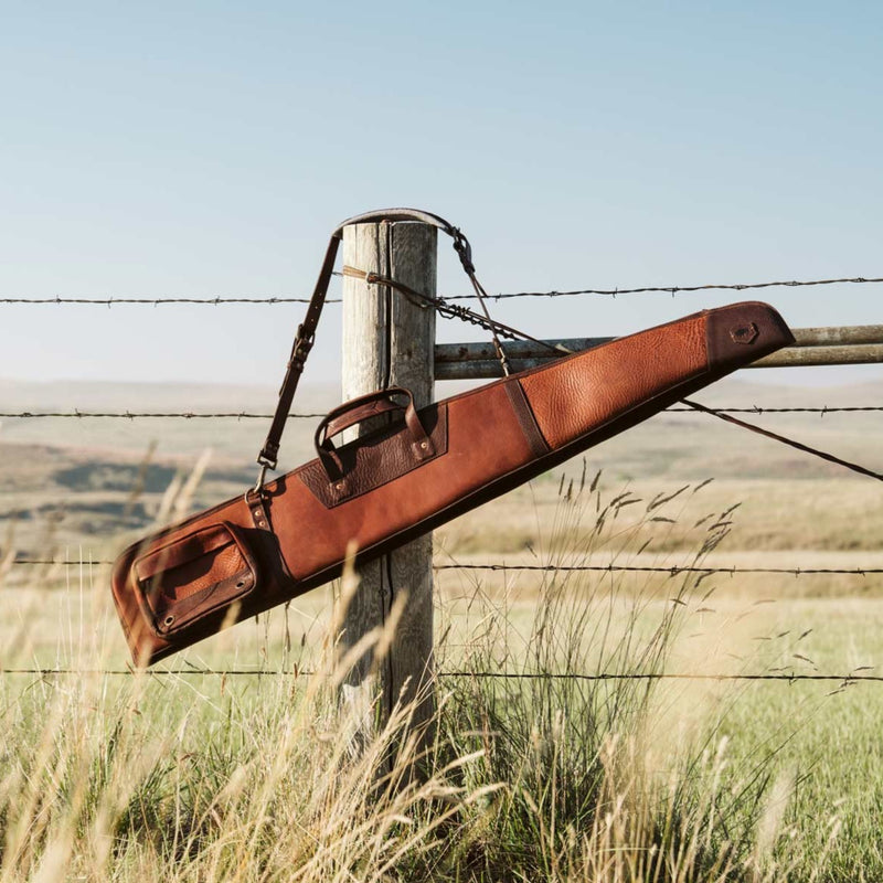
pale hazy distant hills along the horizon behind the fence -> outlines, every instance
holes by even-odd
[[[748,377],[747,380],[745,377]],[[833,407],[883,404],[883,380],[812,389],[755,383],[751,374],[721,381],[694,397],[713,406],[733,407]],[[453,395],[475,384],[440,383],[437,396]],[[65,381],[56,383],[0,380],[0,412],[113,411],[272,414],[277,392],[272,386],[192,383],[115,383]],[[298,391],[295,413],[322,414],[340,401],[337,384],[305,385]],[[810,444],[828,445],[844,456],[873,455],[868,439],[879,435],[883,414],[746,415],[749,421],[778,427]],[[292,419],[283,448],[284,466],[290,468],[312,456],[315,418]],[[175,458],[211,447],[215,458],[231,465],[254,461],[267,419],[109,419],[109,418],[4,418],[0,444],[49,445],[53,447],[117,451],[137,455],[155,440],[157,457]],[[699,432],[701,429],[701,432]],[[810,461],[772,442],[712,417],[695,414],[661,414],[643,427],[611,439],[592,454],[627,475],[652,476],[724,470],[725,474],[775,475],[810,471]],[[872,457],[873,458],[873,457]],[[883,464],[881,464],[883,468]]]

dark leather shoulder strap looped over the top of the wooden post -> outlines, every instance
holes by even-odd
[[[462,264],[462,268],[466,270],[469,278],[474,280],[472,284],[476,284],[472,249],[469,245],[469,241],[457,227],[437,214],[424,212],[419,209],[382,209],[380,211],[358,214],[354,217],[348,217],[343,223],[339,224],[331,234],[331,241],[328,243],[328,251],[322,262],[322,268],[319,272],[319,279],[316,283],[316,288],[313,289],[312,297],[307,307],[307,315],[304,317],[304,321],[298,326],[297,334],[295,336],[285,379],[279,389],[279,401],[276,404],[273,423],[270,423],[269,430],[267,432],[264,447],[260,448],[260,454],[257,455],[257,462],[260,465],[262,470],[255,490],[260,489],[265,471],[267,469],[275,469],[278,462],[279,445],[285,429],[285,422],[288,418],[288,412],[291,408],[291,402],[294,401],[300,375],[304,373],[304,364],[307,361],[307,357],[316,339],[316,328],[322,315],[322,307],[325,306],[325,299],[328,295],[328,286],[331,283],[331,274],[334,269],[334,259],[337,258],[340,242],[343,238],[343,228],[351,224],[374,224],[382,221],[417,221],[438,227],[438,230],[454,240],[454,249],[460,258],[460,264]]]

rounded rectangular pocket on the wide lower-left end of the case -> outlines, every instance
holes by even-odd
[[[135,576],[153,630],[166,637],[253,592],[257,567],[240,530],[224,521],[141,555]]]

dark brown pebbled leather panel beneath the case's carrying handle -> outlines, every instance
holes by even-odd
[[[336,448],[341,475],[331,480],[320,460],[308,462],[296,474],[328,509],[361,497],[447,451],[446,406],[422,408],[419,419],[432,443],[426,450],[414,449],[411,430],[400,423]]]

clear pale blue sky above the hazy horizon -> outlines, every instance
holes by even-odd
[[[0,296],[302,295],[337,222],[460,225],[491,291],[883,275],[871,2],[14,2]],[[442,288],[465,291],[443,246]],[[774,289],[794,326],[880,286]],[[626,333],[738,296],[498,305]],[[0,307],[0,376],[276,384],[302,308]],[[337,376],[328,309],[313,380]],[[467,337],[446,328],[443,339]]]

